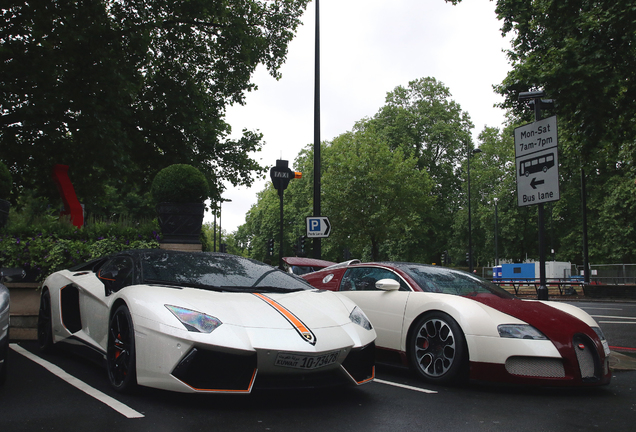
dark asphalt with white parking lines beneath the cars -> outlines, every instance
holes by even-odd
[[[636,304],[577,305],[595,316],[611,346],[632,358]],[[0,387],[2,432],[631,432],[636,425],[636,370],[617,370],[600,388],[441,387],[406,369],[378,365],[375,382],[328,391],[187,395],[140,389],[121,395],[99,365],[66,352],[41,356],[34,342],[14,344],[9,367]]]

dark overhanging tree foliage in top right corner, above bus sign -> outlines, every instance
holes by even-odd
[[[519,92],[557,101],[561,129],[591,161],[599,144],[636,139],[636,7],[632,1],[498,0],[502,32],[512,35],[512,70],[497,87],[505,107],[528,113]],[[634,162],[634,155],[631,156]]]

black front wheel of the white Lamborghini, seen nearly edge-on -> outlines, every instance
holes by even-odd
[[[135,329],[126,305],[119,306],[110,319],[106,363],[115,390],[129,392],[137,385]]]

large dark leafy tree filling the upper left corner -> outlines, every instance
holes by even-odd
[[[87,209],[107,185],[138,193],[166,165],[190,163],[218,197],[249,185],[261,136],[228,139],[264,64],[278,77],[308,0],[7,0],[0,25],[0,160],[22,188],[54,195],[71,166]]]

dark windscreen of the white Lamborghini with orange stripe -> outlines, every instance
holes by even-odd
[[[313,289],[304,280],[277,268],[233,255],[213,253],[153,252],[142,256],[143,279],[199,288],[255,288],[281,290]]]

